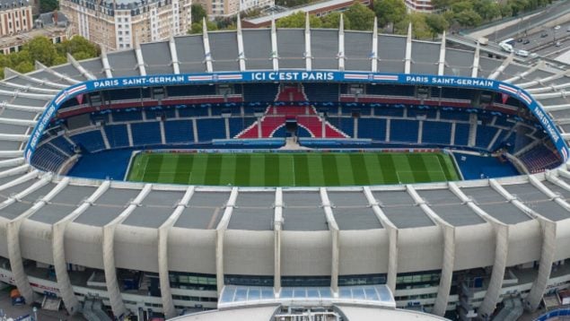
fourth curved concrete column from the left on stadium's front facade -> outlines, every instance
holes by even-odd
[[[161,286],[162,309],[164,311],[164,316],[167,318],[176,317],[176,309],[174,308],[174,303],[172,301],[171,280],[169,275],[168,235],[171,227],[176,221],[178,221],[180,214],[189,203],[192,195],[194,195],[194,187],[188,187],[186,194],[184,194],[174,212],[158,229],[158,276]]]

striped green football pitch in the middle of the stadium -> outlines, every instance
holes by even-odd
[[[338,187],[458,180],[440,152],[139,152],[127,180],[240,187]]]

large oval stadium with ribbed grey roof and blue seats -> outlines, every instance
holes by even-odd
[[[0,281],[88,319],[536,310],[570,282],[567,71],[459,45],[238,25],[6,70]]]

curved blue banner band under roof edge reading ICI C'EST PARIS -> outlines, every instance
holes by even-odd
[[[56,115],[57,109],[69,99],[91,91],[120,89],[141,86],[165,86],[181,84],[202,84],[219,82],[369,82],[408,85],[434,85],[443,87],[460,87],[470,89],[485,89],[506,93],[521,100],[532,114],[539,119],[540,124],[556,145],[564,161],[568,159],[568,147],[552,120],[532,96],[510,83],[483,78],[456,76],[440,76],[425,74],[376,74],[358,72],[324,72],[324,71],[279,71],[279,72],[243,72],[243,73],[214,73],[214,74],[166,74],[136,77],[122,77],[104,80],[94,80],[75,84],[60,91],[48,104],[48,108],[39,117],[38,125],[31,132],[31,138],[26,144],[24,157],[28,163],[35,152],[41,134],[47,128],[49,121]]]

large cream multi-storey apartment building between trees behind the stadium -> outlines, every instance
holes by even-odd
[[[61,0],[72,33],[107,50],[186,34],[190,0]]]

